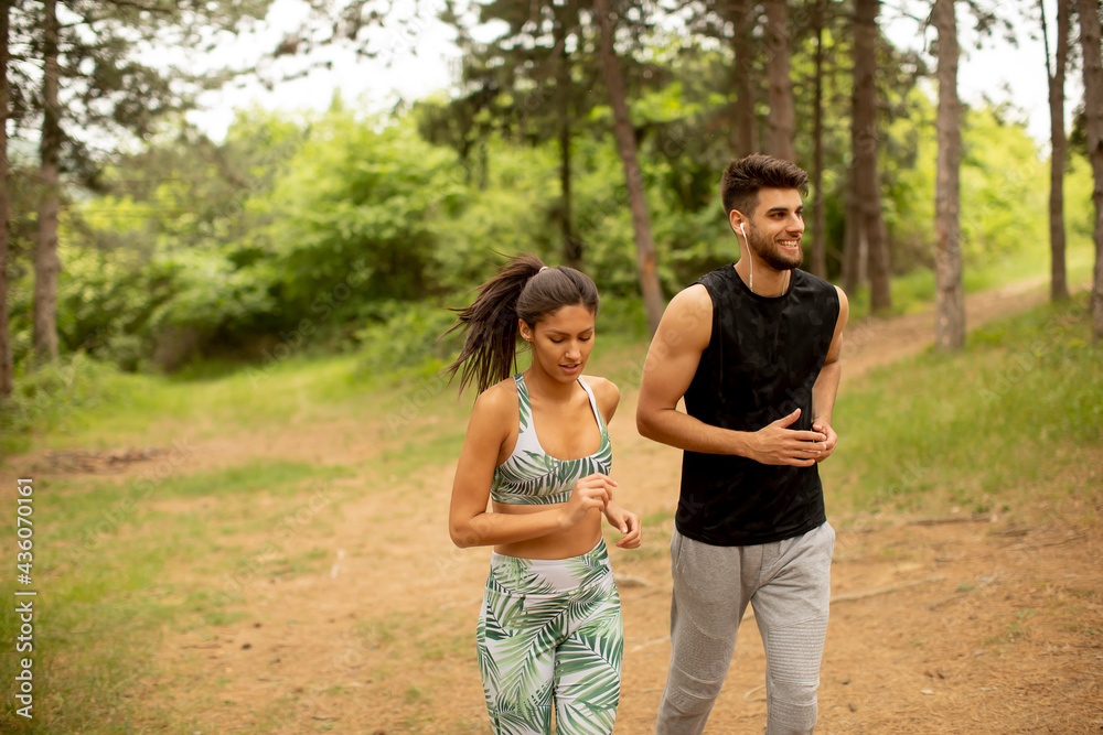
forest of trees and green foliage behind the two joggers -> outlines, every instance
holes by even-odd
[[[375,115],[340,95],[324,112],[247,105],[212,140],[185,115],[199,90],[279,79],[159,67],[147,50],[210,48],[263,23],[267,2],[7,3],[4,428],[26,430],[51,385],[35,375],[78,354],[169,372],[383,344],[390,364],[439,357],[447,307],[494,253],[583,268],[654,328],[666,299],[732,260],[718,174],[754,151],[810,172],[805,268],[865,312],[899,313],[891,279],[925,272],[953,315],[939,344],[960,348],[963,273],[1047,240],[1065,298],[1065,242],[1101,237],[1097,8],[947,0],[920,9],[932,41],[918,53],[881,34],[879,7],[448,6],[463,51],[449,89]],[[269,54],[371,57],[384,11],[315,3]],[[1010,102],[957,99],[959,24],[982,44],[1056,39],[1038,60],[1051,141]],[[499,35],[476,40],[485,28]]]

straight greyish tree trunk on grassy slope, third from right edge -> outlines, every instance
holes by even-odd
[[[955,352],[965,346],[965,300],[961,250],[961,104],[957,99],[957,19],[954,0],[935,0],[939,32],[939,156],[934,182],[934,347]]]

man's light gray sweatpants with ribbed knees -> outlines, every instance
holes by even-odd
[[[704,732],[747,603],[765,648],[767,735],[815,731],[834,548],[828,523],[753,547],[714,547],[674,531],[671,669],[657,735]]]

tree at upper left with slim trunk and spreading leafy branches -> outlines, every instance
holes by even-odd
[[[264,14],[271,0],[178,3],[171,0],[44,0],[29,45],[42,60],[39,231],[35,248],[34,353],[57,356],[57,221],[62,173],[95,185],[101,136],[149,136],[154,121],[185,108],[226,73],[196,75],[137,58],[149,48],[210,47],[218,31]],[[64,22],[58,13],[64,13]],[[68,120],[66,129],[64,121]]]

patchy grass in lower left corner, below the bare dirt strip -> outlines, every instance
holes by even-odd
[[[248,462],[170,476],[150,491],[140,478],[38,479],[34,580],[41,594],[33,655],[36,687],[45,695],[34,712],[45,732],[129,732],[96,727],[136,718],[135,692],[157,674],[164,629],[207,629],[242,618],[232,606],[251,580],[237,568],[258,553],[281,552],[264,562],[267,573],[298,576],[324,568],[313,549],[285,549],[280,521],[293,515],[289,532],[325,532],[324,515],[296,514],[310,487],[345,474],[341,467]],[[165,507],[180,499],[205,500],[208,512]],[[265,499],[278,502],[263,510]],[[260,544],[234,541],[257,533]],[[253,561],[248,569],[255,568]],[[185,579],[172,579],[181,569]],[[218,582],[227,572],[233,584]],[[0,591],[14,598],[10,584]],[[19,625],[13,607],[3,606],[0,635],[12,640]],[[13,657],[0,659],[0,675],[11,680],[14,667]],[[19,726],[10,694],[0,729]]]

